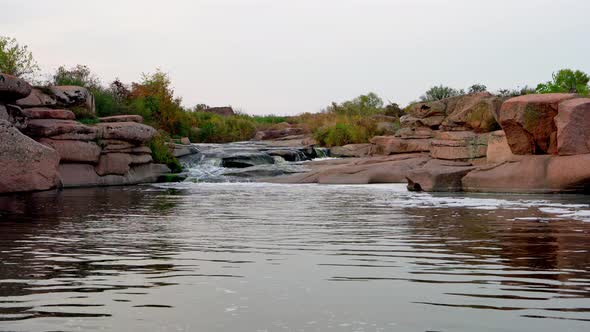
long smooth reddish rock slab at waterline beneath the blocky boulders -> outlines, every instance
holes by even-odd
[[[467,174],[464,191],[559,193],[590,190],[590,154],[575,156],[515,156]]]

